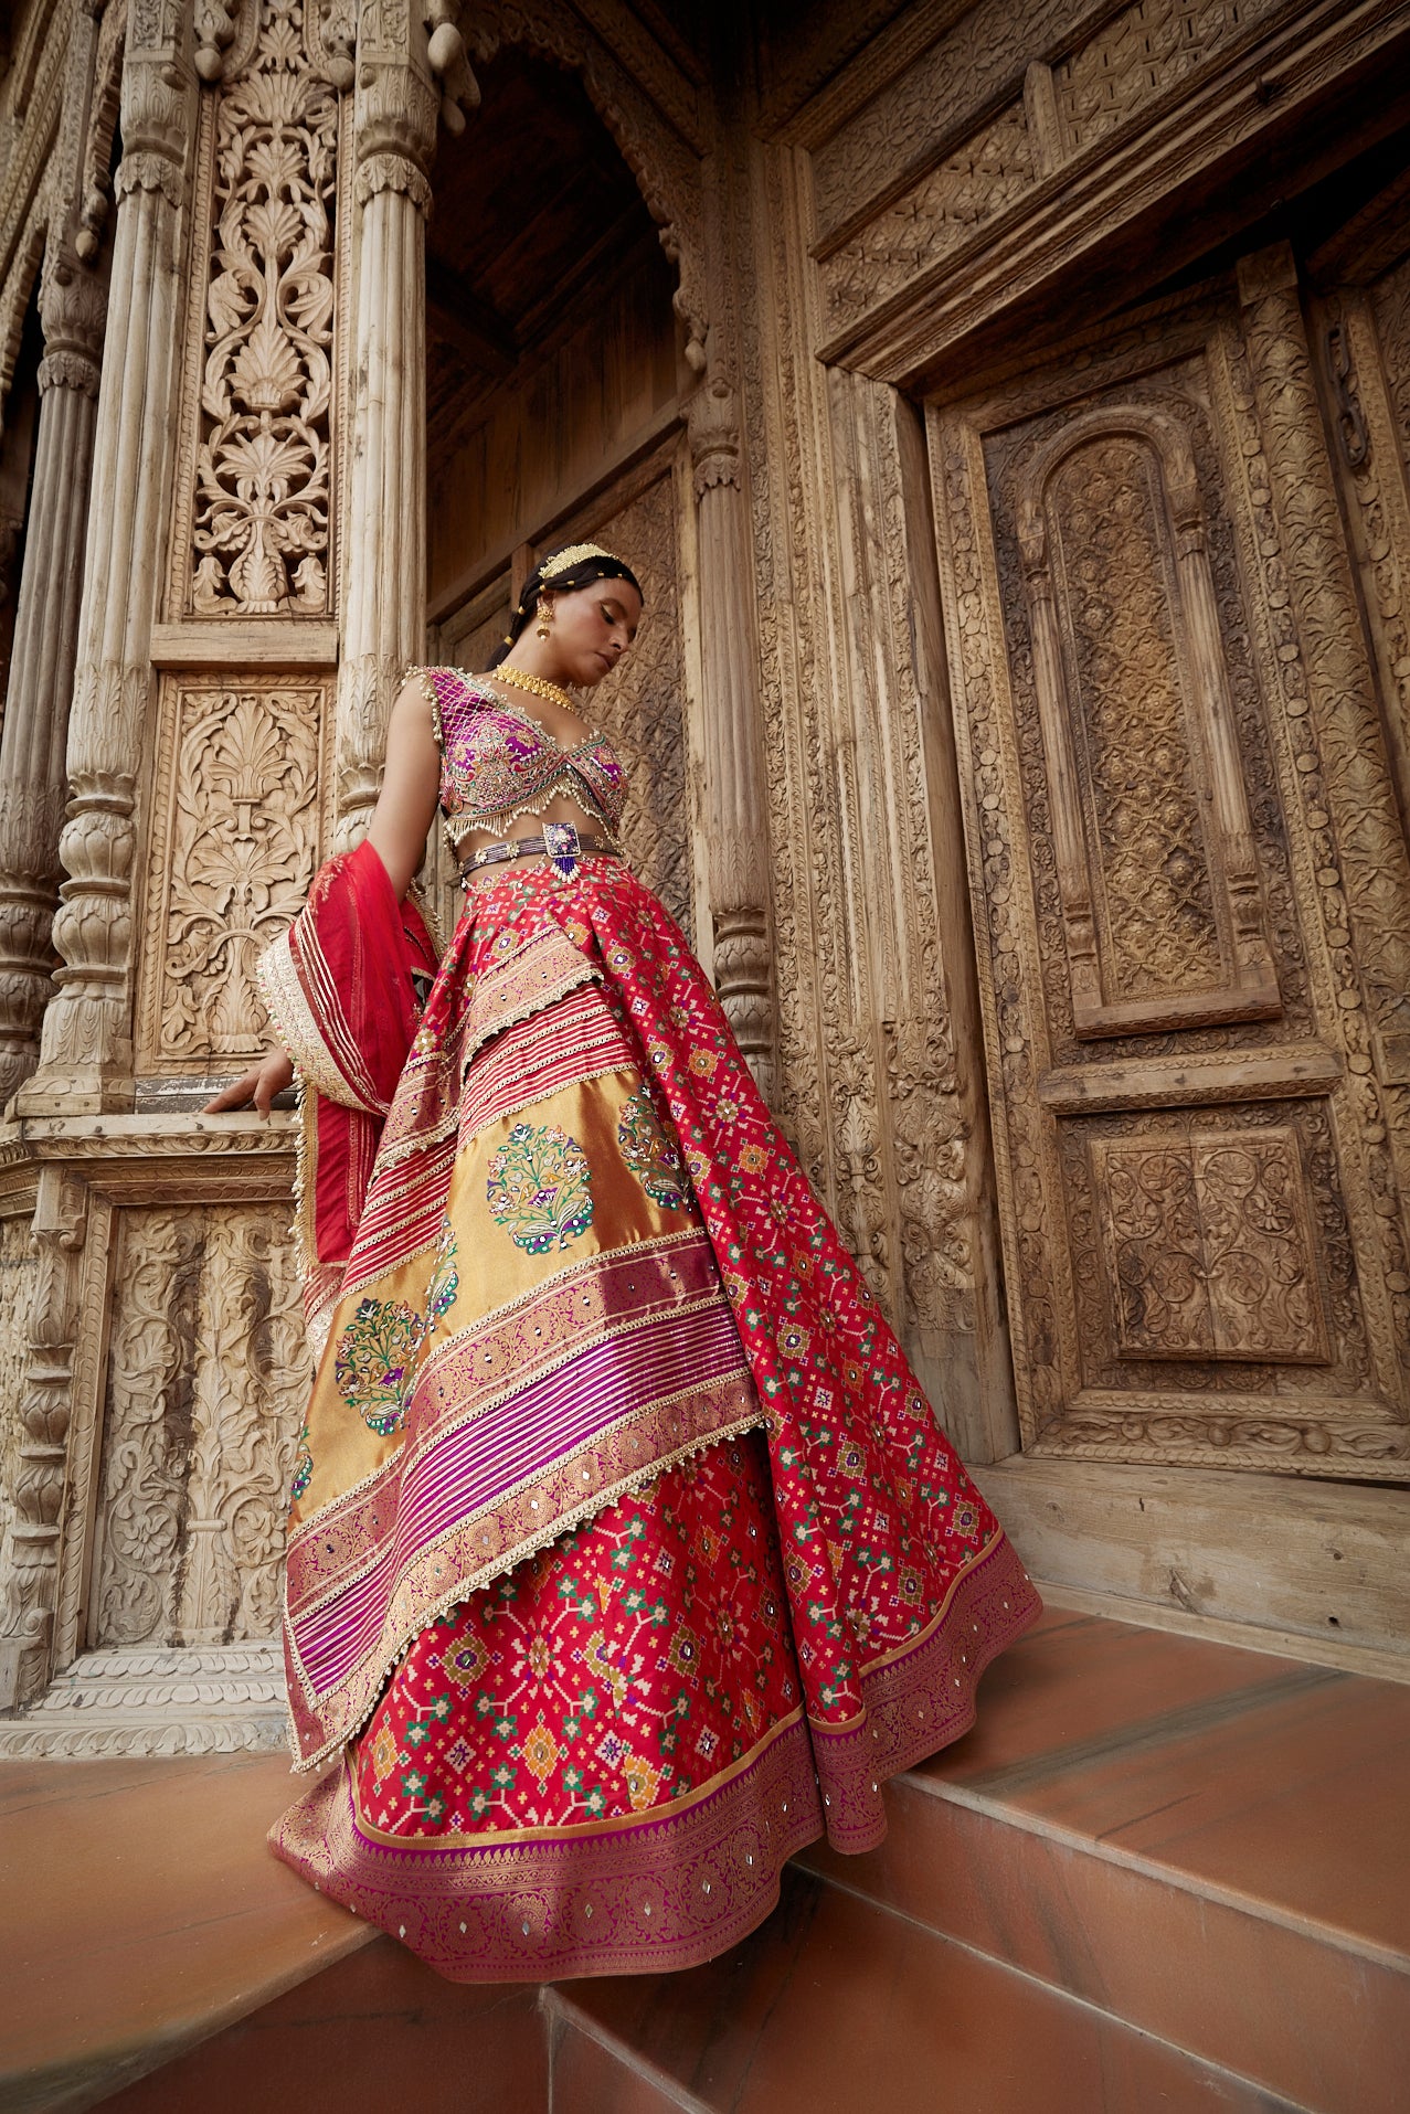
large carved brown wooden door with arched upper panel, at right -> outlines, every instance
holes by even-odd
[[[1025,1448],[1395,1476],[1410,867],[1292,256],[930,442]]]

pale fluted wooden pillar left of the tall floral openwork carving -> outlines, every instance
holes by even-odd
[[[150,44],[144,42],[144,34]],[[131,884],[152,613],[180,332],[178,228],[194,127],[180,11],[133,11],[123,66],[123,163],[112,298],[93,446],[74,706],[72,786],[53,941],[63,958],[40,1068],[21,1114],[131,1106]]]

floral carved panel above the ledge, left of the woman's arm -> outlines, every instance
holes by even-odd
[[[163,679],[137,1042],[146,1076],[205,1074],[264,1049],[254,964],[317,867],[328,689],[321,676]]]

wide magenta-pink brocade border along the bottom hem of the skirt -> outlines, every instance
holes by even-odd
[[[1042,1602],[1000,1535],[926,1636],[862,1674],[843,1727],[791,1717],[715,1786],[641,1820],[395,1839],[361,1826],[347,1763],[271,1831],[304,1879],[450,1981],[558,1981],[700,1966],[755,1930],[786,1860],[886,1835],[879,1786],[975,1723],[979,1674]]]

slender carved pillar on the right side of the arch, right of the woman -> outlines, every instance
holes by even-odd
[[[755,710],[755,575],[740,480],[740,414],[715,374],[691,402],[700,531],[700,651],[715,981],[748,1068],[774,1099],[774,962],[763,757]]]

